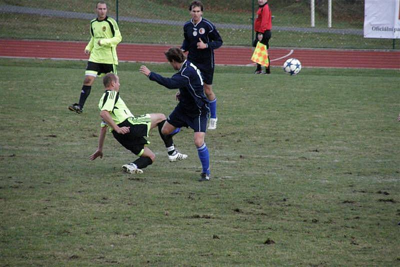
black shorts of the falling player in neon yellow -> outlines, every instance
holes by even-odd
[[[112,135],[114,138],[127,150],[137,156],[141,156],[144,146],[150,143],[144,138],[144,136],[148,135],[148,124],[132,124],[126,119],[119,123],[118,126],[130,127],[130,131],[126,134],[119,134],[113,130]]]

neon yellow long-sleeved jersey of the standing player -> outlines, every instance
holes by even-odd
[[[91,38],[85,50],[90,51],[89,61],[103,64],[118,65],[116,45],[122,41],[121,33],[114,19],[94,19],[90,22]],[[101,46],[98,45],[100,41]]]

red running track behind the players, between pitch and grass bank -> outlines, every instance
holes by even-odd
[[[0,40],[0,57],[87,60],[85,42]],[[119,61],[166,62],[167,45],[119,44]],[[288,58],[300,60],[303,67],[374,68],[400,70],[400,51],[283,49],[268,50],[271,66],[282,66]],[[253,65],[250,47],[222,46],[215,50],[215,64]]]

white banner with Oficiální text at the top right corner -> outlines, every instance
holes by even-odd
[[[364,37],[400,39],[400,0],[365,0]]]

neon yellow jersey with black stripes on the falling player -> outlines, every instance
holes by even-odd
[[[123,100],[119,97],[119,92],[116,92],[114,90],[104,91],[104,94],[98,102],[98,109],[100,111],[108,111],[111,115],[112,120],[116,124],[123,122],[127,118],[134,118],[132,113],[130,113],[129,109],[126,107]],[[106,126],[106,123],[102,121],[101,127],[104,126]],[[112,131],[112,128],[109,127],[109,130]]]

